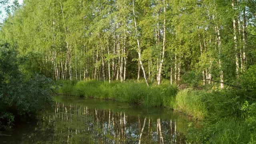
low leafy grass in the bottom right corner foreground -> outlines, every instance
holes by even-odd
[[[233,118],[204,122],[201,130],[191,127],[188,131],[188,141],[195,144],[254,144],[256,138],[247,122]]]

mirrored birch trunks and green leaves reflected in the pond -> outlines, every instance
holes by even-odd
[[[54,110],[43,112],[42,120],[19,140],[23,143],[185,143],[184,134],[177,129],[179,119],[163,120],[130,113],[56,102]]]

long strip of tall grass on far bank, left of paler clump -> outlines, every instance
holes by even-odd
[[[173,100],[178,92],[177,86],[170,84],[161,84],[160,86],[152,84],[148,87],[142,82],[108,83],[95,80],[57,83],[60,86],[58,92],[61,94],[169,108],[173,108]]]

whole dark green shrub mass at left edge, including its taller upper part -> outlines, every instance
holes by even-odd
[[[14,121],[35,118],[52,102],[54,82],[33,74],[25,76],[18,69],[16,49],[9,44],[0,48],[0,128],[10,129]],[[27,80],[29,78],[29,80]]]

